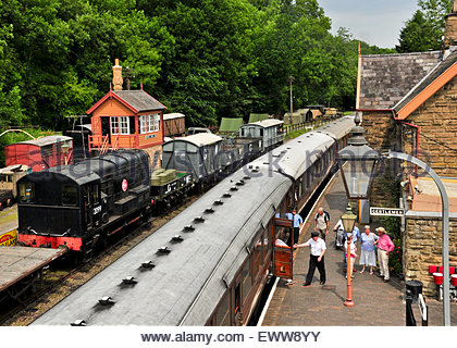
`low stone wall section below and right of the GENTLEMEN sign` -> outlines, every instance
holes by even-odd
[[[442,221],[408,217],[404,236],[403,264],[406,281],[423,283],[423,294],[435,296],[436,287],[429,265],[442,265]],[[457,219],[449,221],[449,265],[457,266]]]

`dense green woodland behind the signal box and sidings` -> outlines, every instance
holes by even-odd
[[[354,107],[357,41],[317,0],[0,0],[0,128],[62,129],[112,65],[188,125],[294,105]],[[362,45],[362,53],[376,53]]]

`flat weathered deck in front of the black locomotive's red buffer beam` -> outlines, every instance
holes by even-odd
[[[0,246],[0,299],[4,295],[20,299],[41,278],[42,269],[65,252],[63,248]]]

